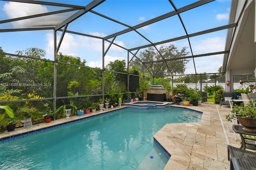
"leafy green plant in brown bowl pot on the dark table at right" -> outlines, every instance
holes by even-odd
[[[256,129],[256,99],[251,100],[248,106],[244,106],[243,103],[240,105],[234,105],[231,113],[225,115],[228,121],[233,121],[237,118],[239,123],[248,129]]]

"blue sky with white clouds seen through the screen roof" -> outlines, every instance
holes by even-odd
[[[51,0],[47,0],[53,2]],[[55,0],[54,2],[63,4],[74,4],[86,6],[90,1],[84,0]],[[195,0],[173,0],[176,8],[181,8]],[[231,0],[216,0],[206,5],[194,8],[192,10],[180,13],[182,21],[186,27],[188,34],[193,34],[203,30],[216,28],[228,24]],[[17,2],[0,1],[0,19],[6,20],[21,16],[30,16],[34,14],[63,10],[66,8],[45,6],[39,4],[26,4]],[[99,6],[93,9],[94,11],[105,16],[114,18],[119,22],[130,26],[136,26],[142,22],[151,20],[152,18],[161,16],[174,10],[168,0],[106,0]],[[28,19],[18,22],[9,22],[0,24],[0,29],[7,28],[26,28],[39,27],[45,25],[58,24],[60,21],[67,18],[74,12],[68,14],[58,14],[54,16],[41,17],[38,20]],[[78,18],[68,25],[67,30],[90,34],[93,36],[105,37],[115,32],[125,30],[127,27],[116,24],[105,18],[101,18],[91,12]],[[147,37],[151,42],[160,42],[166,39],[176,38],[186,35],[184,28],[178,16],[167,18],[159,22],[144,26],[137,30],[143,36]],[[44,31],[25,31],[25,32],[1,32],[0,47],[6,53],[15,53],[31,47],[38,47],[46,51],[46,58],[53,60],[53,30]],[[59,40],[62,32],[57,32],[57,40]],[[192,51],[189,55],[198,55],[203,53],[211,53],[216,51],[224,51],[227,30],[212,32],[201,36],[190,38]],[[110,39],[111,41],[112,39]],[[137,46],[147,45],[149,42],[138,35],[136,32],[128,32],[117,36],[115,43],[122,45],[127,49]],[[178,49],[189,47],[187,39],[178,40],[173,43]],[[104,43],[104,48],[107,49],[108,42]],[[170,43],[162,44],[168,46]],[[157,47],[159,47],[158,45]],[[140,49],[142,51],[143,49]],[[140,52],[139,51],[139,52]],[[86,65],[90,67],[102,68],[102,40],[90,38],[86,36],[78,36],[76,34],[66,33],[64,40],[60,46],[60,50],[64,55],[72,55],[80,57],[87,61]],[[133,51],[135,52],[135,51]],[[130,54],[129,60],[132,55]],[[116,59],[128,60],[127,51],[112,45],[104,57],[105,66]],[[216,73],[218,68],[222,66],[223,55],[198,57],[194,59],[196,71],[198,73]],[[186,65],[185,73],[194,73],[193,62],[190,61]]]

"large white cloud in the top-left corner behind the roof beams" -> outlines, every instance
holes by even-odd
[[[35,14],[42,14],[48,12],[46,6],[39,4],[28,4],[19,2],[8,2],[3,6],[3,11],[9,18],[19,18],[24,16],[30,16]],[[38,26],[53,26],[60,23],[61,18],[65,18],[64,14],[42,16],[39,18],[31,18],[26,20],[20,20],[11,22],[14,28],[27,28],[27,27],[38,27]]]

